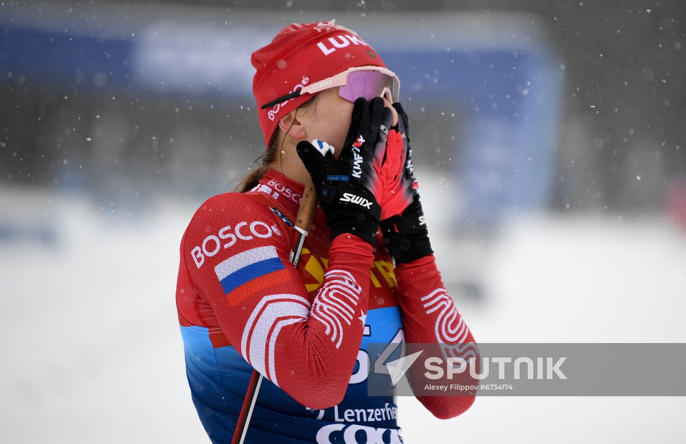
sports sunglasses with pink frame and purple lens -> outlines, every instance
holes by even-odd
[[[364,97],[371,101],[380,95],[386,97],[386,100],[393,104],[398,102],[400,94],[400,80],[393,71],[382,67],[355,67],[296,89],[292,93],[263,104],[261,109],[286,102],[299,95],[319,93],[335,86],[340,86],[338,95],[351,102],[355,102],[357,97]]]

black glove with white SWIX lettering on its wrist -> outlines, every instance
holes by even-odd
[[[317,189],[331,240],[351,233],[375,246],[381,218],[379,175],[391,120],[392,112],[384,108],[381,97],[372,102],[359,97],[338,160],[324,141],[301,141],[296,146]]]

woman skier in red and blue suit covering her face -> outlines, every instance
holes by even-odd
[[[252,65],[263,163],[206,200],[180,245],[193,404],[211,441],[229,443],[256,369],[246,443],[401,443],[394,397],[367,395],[368,344],[474,338],[429,244],[399,80],[333,22],[285,27]],[[294,267],[308,176],[319,204]],[[474,400],[418,399],[441,419]]]

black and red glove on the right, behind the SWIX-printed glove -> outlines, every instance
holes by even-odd
[[[398,113],[398,124],[388,132],[380,227],[383,242],[398,265],[430,255],[434,250],[431,250],[419,200],[419,184],[414,177],[410,121],[400,102],[392,106]]]

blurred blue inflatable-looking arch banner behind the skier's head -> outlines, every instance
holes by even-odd
[[[0,19],[0,72],[102,94],[215,95],[254,106],[252,51],[289,19],[316,20],[227,13],[226,20],[113,17],[93,27],[69,15],[54,15],[49,27],[30,13]],[[421,104],[429,117],[442,110],[456,115],[448,130],[458,137],[446,146],[412,141],[415,149],[449,153],[451,193],[460,202],[451,206],[456,222],[490,226],[516,211],[547,207],[564,65],[536,16],[342,19],[397,72],[406,108],[416,113]]]

